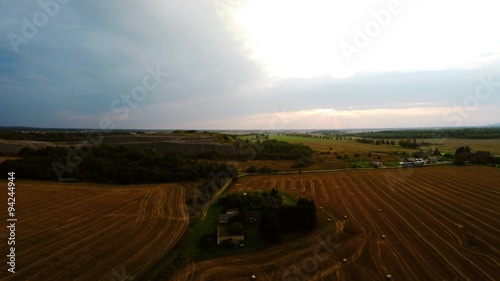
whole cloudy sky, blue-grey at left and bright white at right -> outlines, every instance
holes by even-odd
[[[496,0],[0,0],[0,126],[500,122]]]

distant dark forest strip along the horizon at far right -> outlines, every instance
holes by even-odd
[[[387,130],[377,132],[363,132],[351,134],[360,138],[371,139],[496,139],[500,138],[500,128],[442,128],[442,129],[412,129]]]

